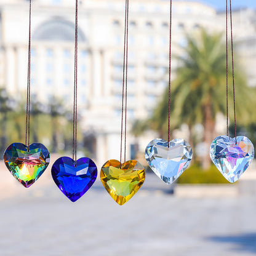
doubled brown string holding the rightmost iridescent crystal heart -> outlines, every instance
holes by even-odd
[[[235,90],[234,90],[234,44],[233,44],[233,22],[232,22],[231,0],[230,0],[230,34],[231,34],[232,78],[233,78],[234,136],[236,138],[236,98],[235,98]],[[226,0],[226,118],[227,118],[226,130],[228,134],[228,0]]]

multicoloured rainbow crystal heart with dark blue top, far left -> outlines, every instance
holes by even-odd
[[[42,175],[50,162],[50,153],[41,143],[25,146],[12,143],[4,152],[4,162],[10,173],[26,188]]]

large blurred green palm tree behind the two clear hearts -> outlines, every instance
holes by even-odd
[[[204,143],[209,148],[216,136],[215,116],[226,113],[226,51],[220,33],[209,34],[201,30],[198,38],[187,36],[185,57],[179,57],[180,68],[172,83],[172,129],[186,123],[204,126]],[[236,62],[237,63],[237,62]],[[230,65],[231,67],[231,65]],[[237,70],[237,69],[236,69]],[[233,92],[231,69],[229,70],[230,90],[228,94],[230,118],[233,119]],[[237,117],[243,123],[252,118],[255,89],[248,88],[246,79],[236,71]],[[165,93],[150,119],[150,127],[166,134],[168,94]],[[210,166],[209,154],[202,161],[202,167]]]

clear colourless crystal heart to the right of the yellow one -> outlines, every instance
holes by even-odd
[[[167,184],[174,182],[184,172],[192,159],[190,144],[182,138],[169,142],[156,138],[145,150],[145,158],[153,172]]]

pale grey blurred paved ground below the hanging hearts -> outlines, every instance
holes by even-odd
[[[25,189],[0,169],[0,256],[256,255],[255,190],[178,198],[148,175],[121,207],[100,182],[72,203],[49,174]]]

